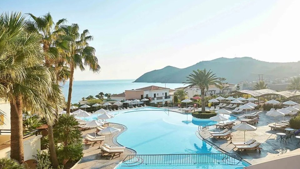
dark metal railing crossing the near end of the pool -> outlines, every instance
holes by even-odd
[[[242,158],[236,153],[207,154],[159,154],[159,155],[128,155],[123,166],[137,165],[175,165],[175,164],[215,164],[237,165]]]

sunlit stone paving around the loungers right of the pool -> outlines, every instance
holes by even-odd
[[[240,116],[242,114],[238,114]],[[285,116],[284,119],[289,119],[289,116]],[[277,122],[282,121],[282,117],[277,117]],[[247,151],[237,151],[237,148],[230,142],[243,142],[244,141],[244,132],[243,131],[232,131],[232,140],[228,138],[227,140],[221,138],[212,138],[209,134],[209,131],[216,131],[215,126],[210,126],[208,130],[200,131],[199,135],[206,141],[209,141],[213,145],[220,147],[221,149],[227,152],[235,152],[239,154],[244,160],[251,164],[256,164],[264,161],[272,160],[272,157],[278,156],[280,154],[284,154],[286,152],[295,150],[300,146],[297,146],[299,139],[292,137],[292,141],[289,143],[282,142],[280,143],[280,139],[277,141],[279,136],[276,135],[278,132],[287,133],[287,131],[279,130],[274,131],[270,129],[268,126],[269,123],[274,122],[274,117],[270,117],[266,115],[266,111],[263,111],[259,114],[259,122],[254,126],[257,127],[256,131],[246,131],[246,141],[253,138],[258,142],[262,143],[260,147],[262,147],[261,153],[257,150],[247,150]],[[235,124],[240,124],[240,121],[237,121]],[[218,130],[218,129],[217,129]],[[222,129],[221,129],[222,130]]]

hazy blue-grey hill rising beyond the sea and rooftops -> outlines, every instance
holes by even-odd
[[[186,81],[186,77],[193,70],[205,68],[211,69],[218,77],[225,77],[229,83],[238,83],[242,80],[255,81],[258,79],[258,74],[263,74],[264,79],[284,78],[300,74],[300,62],[271,63],[249,57],[218,58],[199,62],[184,69],[167,66],[145,73],[134,82],[182,83]]]

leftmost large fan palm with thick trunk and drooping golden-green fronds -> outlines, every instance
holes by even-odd
[[[53,107],[45,99],[51,95],[52,79],[40,46],[41,36],[28,33],[21,13],[0,16],[0,97],[9,100],[11,107],[12,159],[24,162],[22,110],[40,111],[53,122]]]

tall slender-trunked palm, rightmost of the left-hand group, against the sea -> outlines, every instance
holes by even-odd
[[[73,42],[70,42],[69,44],[69,51],[66,53],[66,62],[70,67],[67,102],[67,114],[70,114],[74,70],[79,68],[83,71],[85,70],[84,66],[88,66],[91,71],[99,72],[100,66],[98,64],[98,59],[95,56],[95,49],[88,44],[89,41],[93,40],[93,36],[88,36],[88,30],[83,30],[83,33],[80,34],[78,24],[65,26],[63,29],[66,34],[73,39]]]

